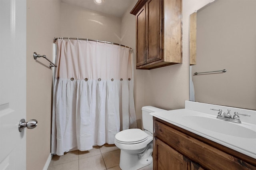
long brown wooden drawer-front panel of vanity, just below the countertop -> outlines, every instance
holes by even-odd
[[[206,169],[255,170],[256,167],[188,136],[174,128],[154,121],[154,136],[168,143],[193,162]]]

